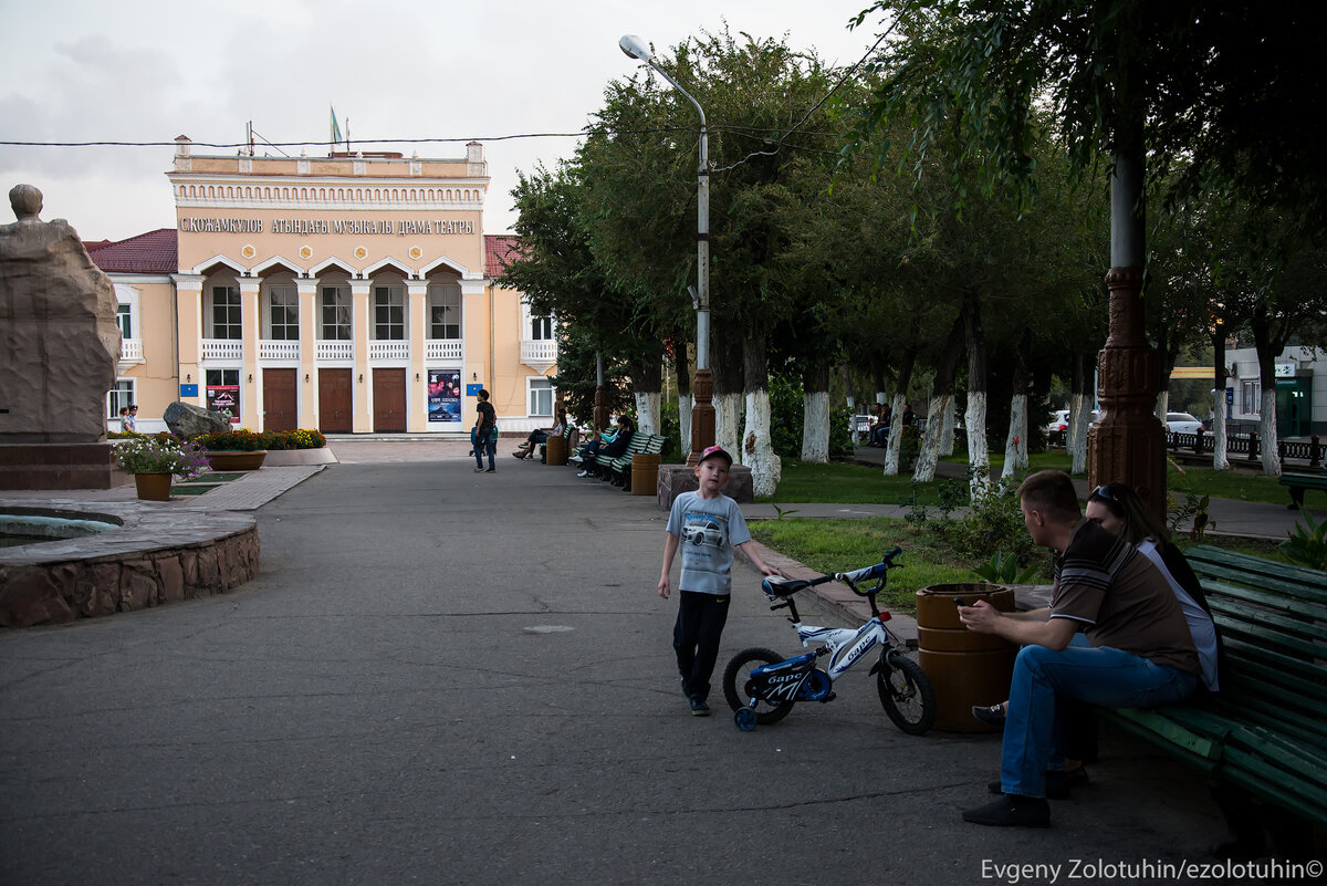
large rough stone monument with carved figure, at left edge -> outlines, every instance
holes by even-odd
[[[0,225],[0,488],[107,488],[125,481],[106,443],[119,328],[110,279],[41,191],[9,191]]]

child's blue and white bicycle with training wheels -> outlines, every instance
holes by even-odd
[[[876,606],[876,594],[884,590],[886,573],[898,568],[894,557],[900,553],[901,549],[894,548],[880,562],[856,572],[832,573],[809,581],[772,577],[760,582],[766,597],[774,601],[770,609],[788,610],[788,621],[798,630],[802,645],[823,646],[787,659],[760,647],[746,649],[734,655],[723,670],[723,696],[734,711],[733,719],[739,729],[750,732],[756,724],[778,723],[796,702],[823,704],[833,700],[833,682],[876,646],[881,647],[880,658],[871,672],[876,675],[876,688],[885,714],[909,735],[922,735],[932,727],[936,722],[936,691],[926,679],[926,672],[904,654],[898,638],[885,627],[889,611],[880,611]],[[841,581],[855,594],[865,597],[871,603],[872,619],[857,630],[803,625],[792,596],[827,581]],[[857,589],[859,584],[871,581],[876,581],[876,585],[869,590]],[[825,670],[816,667],[816,659],[823,655],[831,657]]]

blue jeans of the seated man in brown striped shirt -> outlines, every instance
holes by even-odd
[[[1024,646],[1014,662],[1001,789],[1027,797],[1046,796],[1046,771],[1064,768],[1064,722],[1056,695],[1101,707],[1161,707],[1193,695],[1194,674],[1154,664],[1109,646],[1089,646],[1078,634],[1075,642],[1055,651]]]

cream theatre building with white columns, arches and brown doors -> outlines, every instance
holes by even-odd
[[[176,139],[173,229],[89,244],[119,301],[107,420],[173,401],[251,430],[467,436],[488,389],[503,431],[547,426],[553,324],[494,285],[488,167],[399,154],[210,157]]]

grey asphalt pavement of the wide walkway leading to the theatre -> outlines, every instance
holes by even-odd
[[[959,820],[999,736],[904,735],[865,668],[755,732],[718,688],[690,716],[653,499],[421,446],[334,444],[256,512],[238,593],[0,633],[0,883],[1213,882],[1092,867],[1222,830],[1123,736],[1003,830]],[[750,566],[734,590],[721,668],[798,650]]]

